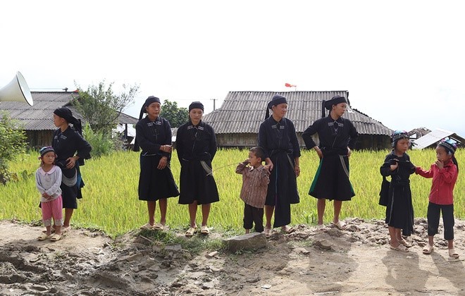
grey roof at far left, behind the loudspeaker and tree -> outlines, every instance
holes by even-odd
[[[14,118],[24,125],[25,130],[55,130],[53,121],[55,109],[67,106],[75,118],[85,123],[82,115],[70,106],[70,101],[77,96],[77,92],[31,92],[34,106],[17,101],[2,101],[0,110],[10,113]],[[120,123],[136,124],[137,118],[121,113]]]

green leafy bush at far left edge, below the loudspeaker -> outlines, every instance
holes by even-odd
[[[0,113],[0,183],[6,184],[11,174],[8,161],[25,151],[26,135],[18,121],[11,119],[8,113]]]

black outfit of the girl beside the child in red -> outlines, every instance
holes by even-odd
[[[399,166],[395,171],[390,170],[390,165],[398,159]],[[387,154],[380,173],[391,176],[389,187],[389,199],[386,206],[386,223],[388,226],[402,229],[403,235],[411,235],[414,231],[414,207],[411,203],[410,175],[415,173],[415,167],[410,162],[407,153],[402,156],[394,152]]]

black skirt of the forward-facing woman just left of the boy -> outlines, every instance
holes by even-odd
[[[211,161],[205,161],[205,164],[211,168]],[[182,160],[180,189],[179,204],[192,204],[194,201],[211,204],[220,200],[213,174],[208,174],[197,160]]]

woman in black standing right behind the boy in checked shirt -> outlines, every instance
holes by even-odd
[[[273,111],[268,117],[269,109]],[[265,121],[259,128],[259,147],[265,151],[265,162],[270,168],[270,183],[265,201],[265,235],[271,235],[271,218],[275,214],[274,227],[281,227],[284,233],[292,233],[287,226],[291,221],[291,204],[299,203],[297,177],[300,174],[300,148],[294,123],[285,118],[287,101],[276,94],[268,103]]]

